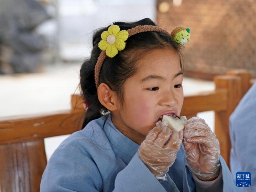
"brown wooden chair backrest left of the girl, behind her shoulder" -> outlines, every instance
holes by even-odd
[[[0,191],[36,192],[47,164],[44,138],[82,128],[85,110],[78,95],[72,109],[54,114],[0,119]]]

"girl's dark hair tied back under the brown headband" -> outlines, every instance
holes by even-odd
[[[128,30],[140,25],[156,26],[156,24],[149,18],[133,23],[114,22],[113,24],[118,25],[120,30]],[[102,113],[104,114],[108,112],[108,109],[102,106],[98,100],[94,79],[94,68],[101,53],[98,43],[101,41],[101,33],[107,31],[108,27],[101,28],[93,34],[91,57],[82,64],[80,69],[81,94],[90,106],[85,114],[82,128],[84,128],[90,121],[101,117]],[[113,58],[106,57],[100,71],[100,83],[106,83],[112,91],[116,92],[121,104],[123,101],[124,82],[138,70],[136,62],[142,59],[143,56],[145,56],[145,53],[149,53],[155,49],[170,47],[179,54],[180,67],[182,68],[183,57],[180,51],[181,46],[172,41],[170,35],[161,32],[148,31],[132,35],[125,42],[126,45],[124,50],[119,51]]]

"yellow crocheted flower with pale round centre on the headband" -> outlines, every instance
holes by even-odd
[[[122,51],[125,48],[125,42],[128,39],[128,32],[125,30],[120,31],[119,26],[111,25],[108,27],[108,31],[101,33],[101,41],[99,42],[99,48],[102,51],[106,51],[106,55],[110,58],[116,56],[118,51]]]

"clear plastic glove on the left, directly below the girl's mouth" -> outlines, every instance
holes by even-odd
[[[183,130],[173,131],[166,122],[159,121],[140,144],[138,155],[156,179],[165,180],[169,167],[177,157],[182,138]]]

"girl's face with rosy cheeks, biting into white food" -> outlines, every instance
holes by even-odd
[[[137,64],[139,70],[125,81],[123,106],[111,114],[116,128],[140,144],[161,116],[180,116],[183,74],[171,48],[154,50]]]

